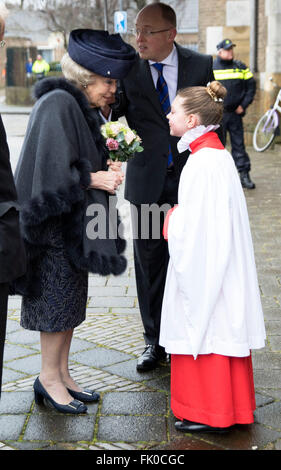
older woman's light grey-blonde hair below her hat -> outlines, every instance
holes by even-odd
[[[64,54],[60,63],[64,77],[74,83],[79,89],[83,90],[95,82],[96,75],[74,62],[68,52]]]

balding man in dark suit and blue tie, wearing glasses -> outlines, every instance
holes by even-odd
[[[144,7],[136,18],[139,58],[123,80],[112,119],[125,115],[142,139],[144,151],[128,161],[125,198],[132,204],[134,257],[139,306],[146,343],[137,362],[138,371],[155,368],[166,357],[159,346],[161,306],[169,260],[162,236],[164,209],[177,203],[181,170],[188,152],[179,156],[176,137],[171,137],[166,114],[156,90],[162,63],[163,77],[172,103],[177,89],[206,86],[214,80],[212,57],[193,52],[174,42],[176,15],[168,5]],[[169,161],[172,155],[172,162]],[[151,221],[145,216],[151,208]],[[161,208],[163,211],[161,211]],[[146,220],[144,220],[146,219]],[[158,222],[158,233],[155,223]],[[152,223],[154,222],[154,229]],[[149,225],[149,226],[148,226]],[[175,312],[176,315],[176,312]]]

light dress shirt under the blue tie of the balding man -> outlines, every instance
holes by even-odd
[[[155,61],[149,60],[151,75],[153,82],[156,88],[158,72],[152,64],[155,64]],[[177,94],[177,84],[178,84],[178,52],[177,48],[174,45],[172,52],[166,57],[166,59],[161,60],[161,64],[164,64],[163,67],[163,77],[168,85],[170,103],[174,101]]]

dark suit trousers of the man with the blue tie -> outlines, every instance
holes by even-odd
[[[158,344],[162,300],[169,262],[168,243],[162,230],[165,215],[177,203],[178,178],[168,172],[160,200],[151,205],[131,205],[134,261],[140,313],[146,344]]]

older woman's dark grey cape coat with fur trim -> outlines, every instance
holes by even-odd
[[[46,226],[52,217],[63,221],[64,247],[77,269],[101,275],[117,275],[126,269],[122,255],[126,242],[119,236],[117,211],[112,211],[114,220],[110,214],[109,203],[114,201],[109,201],[105,191],[87,190],[90,172],[106,169],[96,111],[85,95],[63,78],[38,82],[35,94],[38,101],[15,172],[28,254],[27,274],[15,286],[22,295],[41,292],[33,266],[48,246]],[[98,227],[96,234],[92,221],[99,209],[105,231],[101,233]],[[116,225],[112,236],[108,233],[110,224]]]

